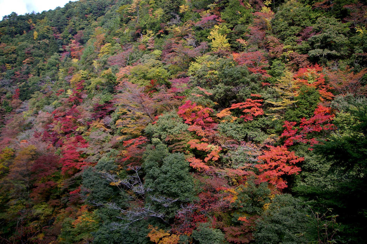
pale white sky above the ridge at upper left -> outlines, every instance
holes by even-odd
[[[0,20],[11,12],[16,12],[18,15],[33,11],[37,13],[55,9],[58,6],[63,7],[66,3],[69,3],[69,0],[0,0]]]

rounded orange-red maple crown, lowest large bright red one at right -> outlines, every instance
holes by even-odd
[[[255,167],[259,170],[260,182],[269,182],[281,190],[287,187],[287,182],[281,178],[284,175],[298,174],[301,168],[295,166],[304,160],[297,157],[294,152],[289,152],[286,146],[267,146],[264,154],[258,156],[259,163]]]

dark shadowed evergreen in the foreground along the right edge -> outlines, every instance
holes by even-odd
[[[366,99],[356,99],[352,95],[338,96],[332,106],[338,109],[334,123],[338,130],[327,137],[323,143],[314,146],[315,158],[323,158],[328,163],[326,169],[317,169],[323,178],[330,179],[319,183],[311,178],[298,183],[297,194],[313,200],[313,210],[326,212],[333,208],[341,223],[341,241],[363,242],[366,228],[366,208],[360,199],[366,195],[366,148],[367,148],[367,106]],[[323,172],[322,172],[322,171]],[[315,168],[309,169],[310,172]],[[317,174],[313,174],[317,176]],[[322,182],[322,181],[321,181]]]

